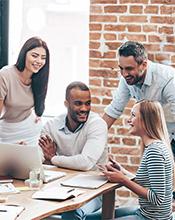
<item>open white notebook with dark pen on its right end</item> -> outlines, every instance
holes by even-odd
[[[84,193],[83,190],[74,189],[70,187],[55,186],[52,188],[46,188],[35,192],[32,195],[32,198],[45,200],[66,200],[77,197],[82,193]]]

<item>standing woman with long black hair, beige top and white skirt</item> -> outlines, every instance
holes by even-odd
[[[22,46],[16,64],[0,70],[1,142],[37,143],[47,93],[49,60],[46,42],[32,37]]]

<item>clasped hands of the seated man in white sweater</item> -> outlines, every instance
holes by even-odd
[[[51,161],[52,157],[56,155],[57,146],[47,134],[40,137],[39,146],[43,150],[45,160]]]

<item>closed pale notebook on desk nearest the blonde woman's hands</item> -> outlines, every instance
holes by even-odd
[[[70,179],[61,182],[63,186],[97,189],[108,182],[102,175],[78,174]]]

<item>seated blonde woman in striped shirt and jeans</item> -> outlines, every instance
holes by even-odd
[[[107,164],[104,174],[110,182],[117,182],[139,197],[139,208],[124,209],[117,219],[170,220],[172,216],[173,155],[161,105],[143,100],[134,105],[130,119],[130,134],[141,137],[143,156],[134,180]],[[119,212],[118,212],[119,213]],[[125,217],[124,217],[125,216]]]

